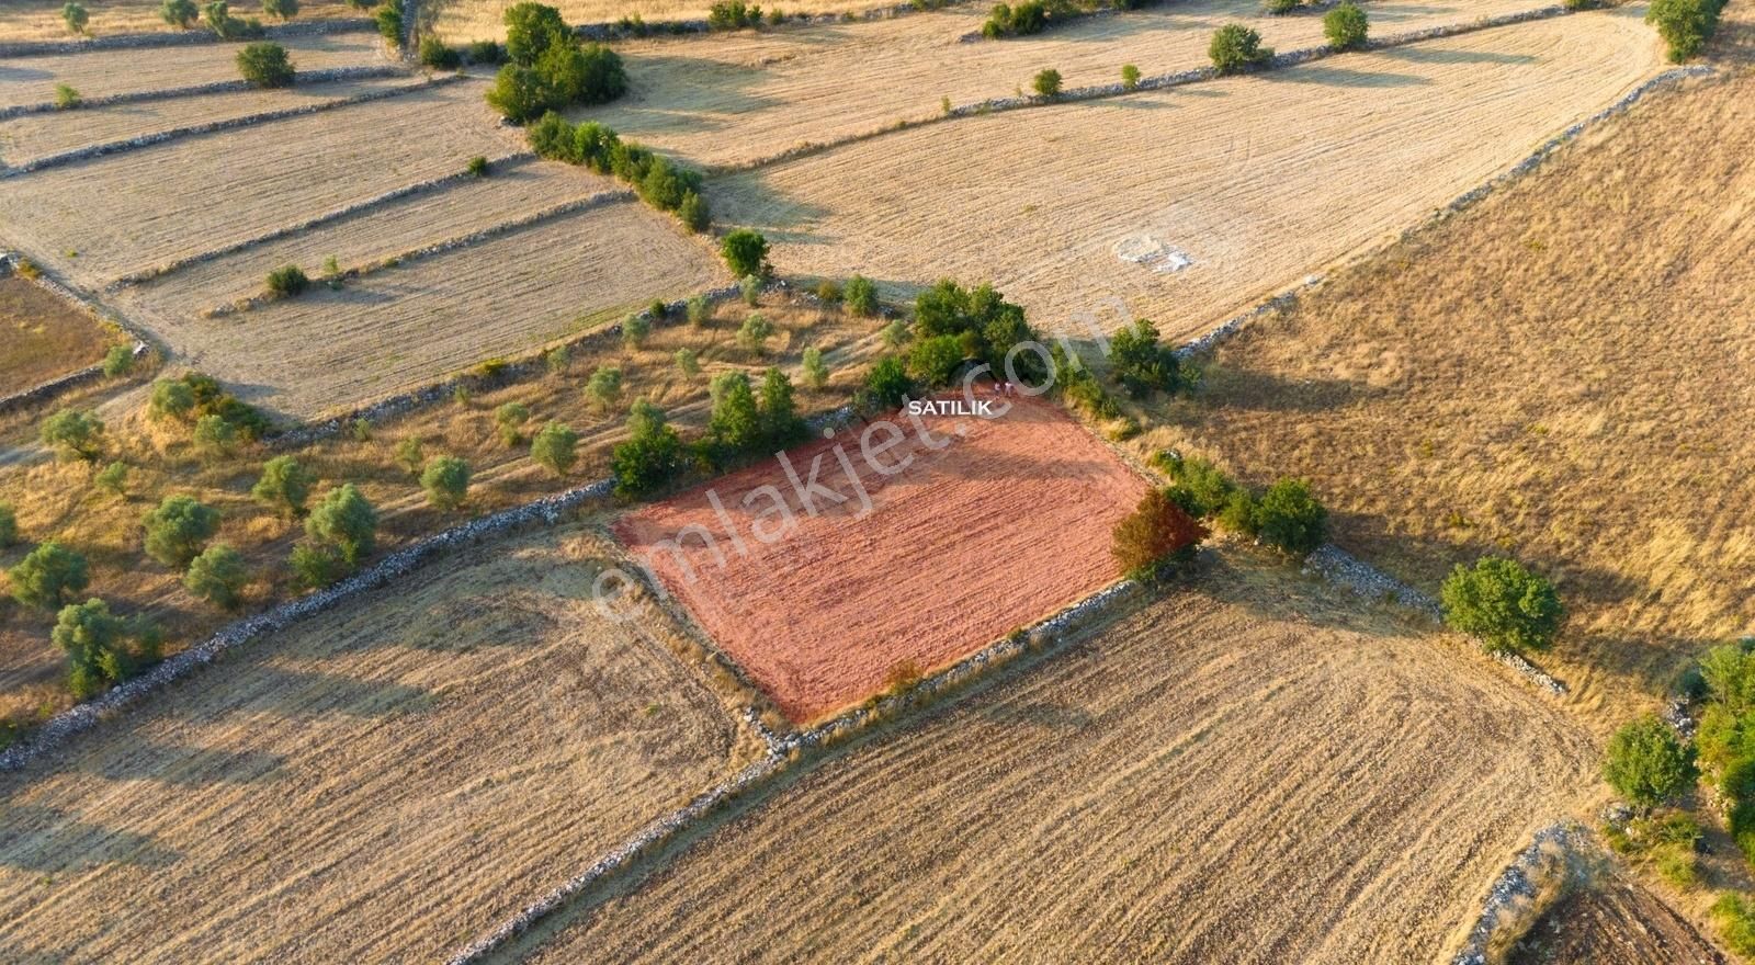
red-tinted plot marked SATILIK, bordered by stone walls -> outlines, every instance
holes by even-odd
[[[1109,530],[1146,482],[1060,409],[1020,398],[999,418],[895,416],[842,435],[786,454],[797,486],[763,460],[614,526],[793,721],[1120,575]],[[839,500],[807,497],[809,479]]]

